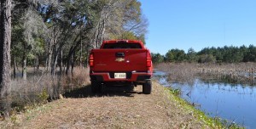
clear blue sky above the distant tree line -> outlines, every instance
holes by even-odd
[[[255,0],[139,1],[149,22],[146,46],[153,53],[256,44]]]

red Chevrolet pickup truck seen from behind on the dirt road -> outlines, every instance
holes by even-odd
[[[102,86],[143,85],[143,93],[152,91],[153,65],[151,55],[141,41],[111,40],[90,52],[90,81],[93,93]]]

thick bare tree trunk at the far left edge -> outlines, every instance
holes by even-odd
[[[9,115],[11,0],[0,1],[0,110]]]

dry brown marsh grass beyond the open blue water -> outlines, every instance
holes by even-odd
[[[171,81],[194,81],[197,76],[214,76],[240,83],[256,83],[256,63],[238,64],[158,64],[157,69],[169,73]]]

